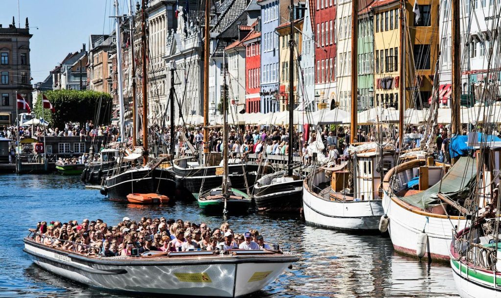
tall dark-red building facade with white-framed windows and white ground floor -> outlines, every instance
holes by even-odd
[[[311,9],[315,10],[315,89],[320,103],[330,104],[336,97],[336,1],[316,1]]]

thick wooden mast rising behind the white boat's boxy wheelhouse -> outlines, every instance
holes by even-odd
[[[358,127],[358,0],[351,5],[351,125],[350,143],[355,142]],[[358,141],[358,140],[357,140]]]

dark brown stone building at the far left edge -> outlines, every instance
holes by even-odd
[[[16,92],[31,105],[32,85],[30,68],[30,26],[26,18],[25,28],[16,28],[14,17],[8,28],[0,25],[0,113],[10,114],[16,120]],[[19,113],[26,113],[20,110]]]

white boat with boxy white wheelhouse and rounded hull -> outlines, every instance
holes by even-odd
[[[379,220],[383,215],[380,171],[393,164],[393,152],[385,151],[381,163],[378,160],[376,152],[365,152],[354,154],[352,165],[355,166],[351,171],[344,163],[312,172],[303,182],[306,223],[353,233],[379,233]],[[332,174],[326,175],[326,172]],[[353,191],[348,187],[350,173],[355,174]]]

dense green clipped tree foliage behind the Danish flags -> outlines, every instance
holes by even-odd
[[[54,127],[63,127],[65,122],[85,123],[87,120],[95,124],[110,122],[112,98],[104,92],[92,90],[52,90],[44,92],[56,110],[42,109],[42,94],[39,94],[34,111],[37,118],[43,118]]]

